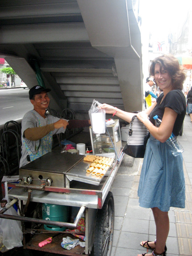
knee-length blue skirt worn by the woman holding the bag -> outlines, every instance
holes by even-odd
[[[182,154],[172,155],[169,145],[152,135],[148,139],[138,188],[141,207],[185,208],[185,178]]]

